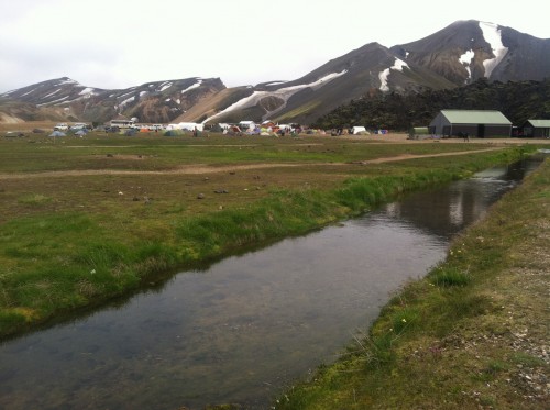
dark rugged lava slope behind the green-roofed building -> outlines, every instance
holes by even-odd
[[[409,130],[428,126],[443,109],[497,110],[516,126],[529,119],[550,119],[550,77],[542,81],[492,81],[480,78],[463,86],[442,90],[400,95],[378,95],[342,104],[310,125],[324,130],[367,129]]]

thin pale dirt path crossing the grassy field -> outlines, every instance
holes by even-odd
[[[383,164],[395,160],[415,159],[415,158],[430,158],[439,156],[453,156],[453,155],[468,155],[474,153],[484,153],[488,151],[503,149],[503,147],[492,147],[475,151],[459,151],[453,153],[440,153],[429,155],[411,155],[404,154],[393,157],[376,158],[370,160],[360,160],[352,164],[369,165],[369,164]],[[92,175],[199,175],[199,174],[215,174],[228,173],[233,170],[246,169],[265,169],[265,168],[282,168],[282,167],[305,167],[305,166],[342,166],[349,165],[344,163],[270,163],[270,164],[245,164],[245,165],[228,165],[228,166],[208,166],[204,164],[185,165],[175,169],[167,170],[123,170],[123,169],[79,169],[79,170],[52,170],[44,173],[19,173],[19,174],[0,174],[0,180],[7,179],[26,179],[26,178],[56,178],[56,177],[81,177]]]

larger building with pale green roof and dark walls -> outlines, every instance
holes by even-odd
[[[430,131],[443,137],[502,137],[510,136],[512,122],[495,110],[441,110],[430,122]]]

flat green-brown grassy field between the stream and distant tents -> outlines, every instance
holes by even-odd
[[[26,135],[0,138],[0,335],[536,147]],[[388,162],[396,157],[403,160]]]

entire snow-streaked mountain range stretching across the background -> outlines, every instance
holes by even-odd
[[[293,81],[227,88],[219,78],[147,82],[124,90],[48,80],[0,96],[0,121],[58,117],[105,122],[122,115],[142,122],[312,123],[364,96],[408,95],[488,81],[550,77],[550,40],[475,20],[458,21],[408,44],[370,43]],[[31,109],[32,104],[35,110]]]

